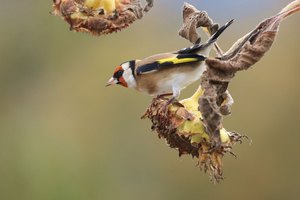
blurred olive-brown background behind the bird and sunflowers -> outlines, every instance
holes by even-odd
[[[291,0],[187,0],[218,23],[235,23],[223,49]],[[105,88],[123,61],[180,49],[184,1],[156,0],[143,20],[108,36],[70,32],[52,1],[0,7],[0,199],[300,199],[300,15],[270,52],[230,85],[228,130],[248,135],[213,185],[189,156],[140,120],[151,98]],[[198,84],[184,90],[190,96]]]

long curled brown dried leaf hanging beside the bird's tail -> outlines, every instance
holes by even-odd
[[[261,22],[238,40],[223,57],[206,60],[208,68],[201,80],[205,92],[199,99],[199,110],[206,131],[212,137],[220,134],[224,115],[222,102],[228,96],[226,93],[229,82],[237,71],[250,68],[264,56],[275,41],[281,21],[300,10],[299,2],[293,2],[279,14]]]

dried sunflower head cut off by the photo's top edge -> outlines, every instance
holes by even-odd
[[[140,0],[53,0],[53,14],[60,16],[70,29],[93,35],[120,31],[153,6],[153,0],[146,0],[143,8]]]

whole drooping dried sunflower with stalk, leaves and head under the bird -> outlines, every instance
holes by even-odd
[[[212,181],[223,179],[222,158],[232,153],[232,147],[244,137],[226,131],[223,116],[230,114],[233,104],[227,88],[236,72],[246,70],[258,62],[271,48],[283,19],[300,10],[300,0],[293,1],[281,12],[261,23],[239,39],[225,54],[217,46],[218,58],[206,60],[207,70],[201,77],[196,93],[168,107],[167,99],[154,98],[144,118],[152,122],[152,130],[164,138],[179,155],[188,154],[198,159],[199,167],[209,174]],[[215,25],[205,12],[189,4],[183,9],[184,24],[179,34],[198,43],[201,39],[197,28],[212,34]],[[234,154],[233,154],[234,155]]]

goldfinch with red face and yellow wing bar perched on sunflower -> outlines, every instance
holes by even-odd
[[[213,44],[232,22],[222,26],[204,44],[122,63],[106,86],[119,84],[151,96],[171,93],[171,101],[175,100],[182,89],[200,79]]]

